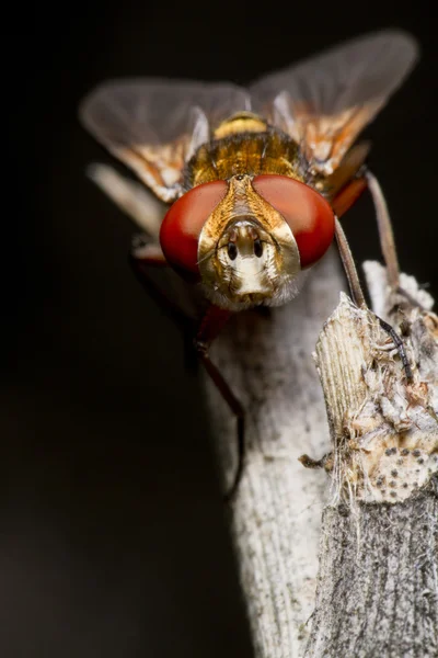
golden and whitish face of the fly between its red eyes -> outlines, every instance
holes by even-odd
[[[211,302],[231,310],[287,300],[300,271],[297,242],[285,219],[252,188],[251,177],[230,188],[203,227],[198,264]]]

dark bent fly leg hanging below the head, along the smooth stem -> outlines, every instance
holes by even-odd
[[[229,406],[230,410],[237,419],[238,467],[235,470],[233,483],[226,495],[226,500],[228,502],[231,501],[235,496],[243,473],[245,452],[245,413],[241,401],[235,397],[229,384],[223,378],[221,372],[210,360],[209,348],[211,345],[211,342],[224,327],[230,316],[231,311],[211,305],[203,318],[198,333],[195,339],[196,351],[206,372],[211,377],[211,381],[214,382],[215,386],[218,388],[220,395],[222,396],[222,398],[224,399],[224,401],[227,402],[227,405]]]

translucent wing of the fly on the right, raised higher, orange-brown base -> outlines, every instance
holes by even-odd
[[[250,91],[255,109],[302,146],[311,171],[330,175],[417,57],[411,35],[371,33],[261,78]]]

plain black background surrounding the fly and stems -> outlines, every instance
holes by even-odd
[[[77,121],[94,84],[244,83],[369,30],[411,31],[423,58],[367,131],[369,161],[402,268],[438,293],[433,3],[270,4],[3,16],[2,658],[252,655],[197,377],[127,266],[132,225],[84,177],[110,161]],[[345,220],[359,262],[380,258],[370,211],[364,197]]]

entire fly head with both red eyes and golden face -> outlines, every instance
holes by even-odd
[[[297,292],[334,235],[331,205],[309,185],[279,174],[238,174],[197,185],[161,225],[164,256],[200,281],[221,308],[276,306]]]

